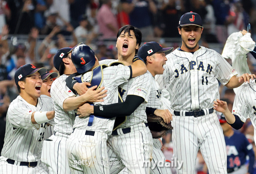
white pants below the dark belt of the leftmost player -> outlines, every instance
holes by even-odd
[[[15,163],[9,164],[8,158],[0,156],[0,173],[1,174],[48,174],[48,169],[39,160],[36,167],[18,166]]]

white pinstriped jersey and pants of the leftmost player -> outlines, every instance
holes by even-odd
[[[2,174],[47,174],[46,166],[40,161],[44,131],[47,123],[33,124],[34,111],[52,111],[52,99],[41,95],[36,106],[28,104],[18,96],[10,104],[6,116],[4,147],[0,156]],[[6,160],[15,160],[9,164]],[[36,167],[20,166],[20,162],[35,162]]]

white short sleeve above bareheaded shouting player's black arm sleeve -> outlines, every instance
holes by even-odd
[[[147,103],[151,89],[151,76],[150,72],[146,72],[141,76],[134,77],[127,95],[140,96]]]

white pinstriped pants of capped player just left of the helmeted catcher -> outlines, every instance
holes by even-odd
[[[66,156],[66,141],[69,136],[56,132],[44,140],[41,160],[48,167],[49,174],[70,174]]]

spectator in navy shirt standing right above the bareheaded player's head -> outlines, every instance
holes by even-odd
[[[143,38],[153,37],[154,30],[152,26],[151,15],[156,15],[157,7],[153,0],[127,0],[124,11],[129,14],[130,25],[138,27]]]

